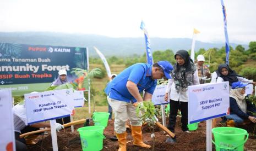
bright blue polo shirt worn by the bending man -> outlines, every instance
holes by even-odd
[[[156,80],[151,79],[152,65],[146,63],[136,63],[119,73],[105,88],[106,94],[115,100],[130,102],[137,102],[135,98],[128,91],[127,81],[137,84],[139,92],[145,90],[153,94],[156,87]]]

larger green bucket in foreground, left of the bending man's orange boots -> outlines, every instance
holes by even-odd
[[[86,126],[77,130],[80,134],[83,151],[99,151],[103,148],[104,129],[104,126]]]

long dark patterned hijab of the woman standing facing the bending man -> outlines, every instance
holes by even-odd
[[[190,59],[188,51],[177,51],[177,53],[175,54],[175,59],[177,55],[181,56],[184,59],[185,63],[184,65],[180,66],[176,62],[171,75],[173,78],[173,82],[175,83],[176,91],[187,91],[188,86],[193,84],[193,74],[197,68],[195,67],[192,59]]]

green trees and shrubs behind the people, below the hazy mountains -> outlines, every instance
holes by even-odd
[[[190,50],[189,54],[190,54]],[[222,48],[210,48],[208,50],[205,50],[204,48],[199,49],[197,52],[195,52],[195,60],[196,57],[202,54],[205,57],[205,64],[209,65],[210,71],[214,72],[217,67],[221,63],[225,63],[226,60],[226,50],[225,47]],[[176,62],[174,59],[175,53],[173,53],[173,50],[167,49],[167,50],[156,50],[152,53],[154,62],[160,61],[160,60],[167,60],[174,65]],[[248,61],[249,60],[249,61]],[[249,62],[256,61],[256,42],[250,42],[249,48],[246,50],[242,47],[242,45],[237,45],[237,47],[234,49],[230,47],[230,67],[232,69],[235,69],[235,71],[248,78],[256,80],[256,68],[253,67],[252,64]],[[126,67],[133,65],[134,63],[138,62],[146,62],[146,54],[143,55],[132,55],[127,57],[117,57],[117,56],[111,56],[107,58],[108,64],[111,66],[112,64],[124,64]],[[248,62],[247,62],[248,61]],[[247,63],[246,63],[247,62]],[[96,57],[90,57],[90,63],[96,63],[96,64],[102,64],[102,61],[100,58]],[[245,64],[246,63],[246,64]],[[104,72],[104,75],[102,75],[102,78],[106,76],[105,69],[102,69]],[[99,77],[100,78],[100,77]]]

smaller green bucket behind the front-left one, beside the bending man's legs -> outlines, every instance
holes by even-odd
[[[92,115],[92,120],[94,121],[95,126],[107,126],[108,117],[110,113],[107,112],[94,112]]]

